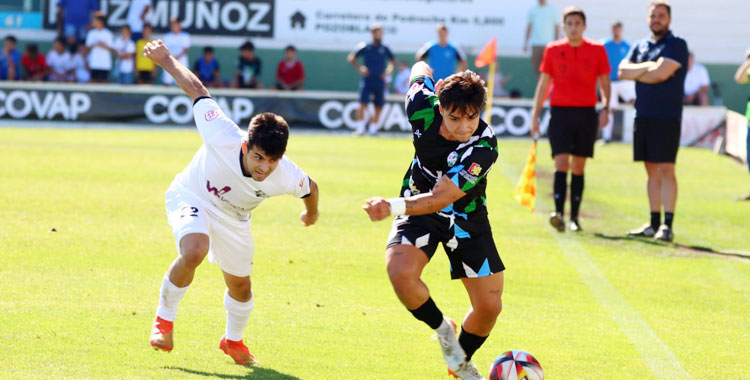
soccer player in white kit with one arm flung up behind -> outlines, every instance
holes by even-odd
[[[256,115],[245,133],[162,41],[149,42],[143,54],[171,74],[194,101],[195,124],[203,139],[203,146],[167,190],[167,218],[179,255],[162,282],[151,345],[172,350],[177,305],[193,281],[195,268],[208,256],[209,262],[219,264],[227,284],[226,333],[219,348],[237,364],[256,365],[242,341],[253,310],[250,211],[265,198],[291,194],[303,199],[300,220],[310,226],[318,218],[318,187],[284,156],[289,126],[283,118]]]

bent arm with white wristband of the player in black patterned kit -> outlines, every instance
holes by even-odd
[[[377,222],[391,215],[427,215],[438,212],[466,195],[448,176],[440,178],[431,192],[408,198],[370,198],[362,208]]]

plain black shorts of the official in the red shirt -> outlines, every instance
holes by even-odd
[[[594,107],[552,107],[547,137],[552,157],[572,154],[594,157],[599,115]]]

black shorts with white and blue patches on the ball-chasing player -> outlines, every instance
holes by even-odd
[[[451,263],[451,278],[476,278],[505,270],[492,239],[492,231],[466,232],[451,226],[450,219],[437,215],[399,216],[393,221],[388,247],[398,244],[413,245],[427,255],[437,250],[438,243]]]

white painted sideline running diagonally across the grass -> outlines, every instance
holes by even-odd
[[[503,168],[503,174],[511,180],[511,184],[515,184],[520,173],[511,173],[512,168],[507,165],[504,165]],[[536,213],[536,216],[546,227],[548,222],[545,215]],[[548,231],[557,241],[557,245],[560,246],[565,258],[576,268],[596,300],[617,322],[620,330],[633,343],[636,351],[641,354],[641,358],[648,364],[651,371],[660,379],[692,380],[693,377],[685,371],[672,350],[656,336],[651,326],[628,304],[602,274],[599,267],[591,261],[588,252],[581,243],[575,238],[565,236],[551,228],[548,228]]]

